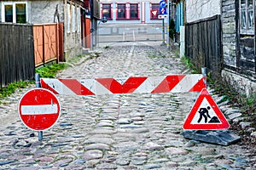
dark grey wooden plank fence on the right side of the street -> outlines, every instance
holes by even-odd
[[[207,67],[213,77],[221,73],[223,63],[220,15],[185,26],[185,53],[197,67]]]

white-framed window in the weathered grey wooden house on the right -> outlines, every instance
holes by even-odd
[[[242,34],[253,34],[254,31],[254,1],[240,0],[240,30]]]

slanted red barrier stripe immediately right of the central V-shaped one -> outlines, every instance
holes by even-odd
[[[175,88],[177,84],[185,77],[185,75],[172,75],[167,76],[160,84],[154,88],[151,94],[168,93]]]

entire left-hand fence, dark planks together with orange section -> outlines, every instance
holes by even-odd
[[[0,23],[0,88],[32,80],[35,67],[64,61],[63,24]]]

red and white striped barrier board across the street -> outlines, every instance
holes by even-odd
[[[127,77],[95,79],[41,78],[42,88],[55,94],[101,95],[133,93],[186,93],[201,92],[207,88],[206,77],[201,74],[169,75],[166,77]]]

